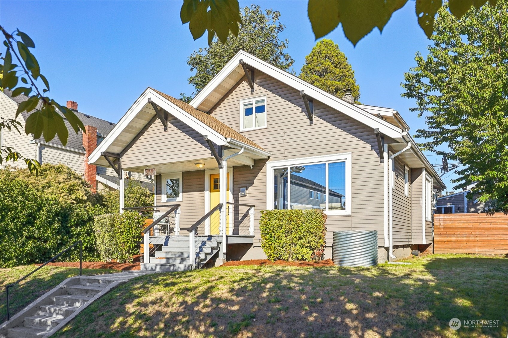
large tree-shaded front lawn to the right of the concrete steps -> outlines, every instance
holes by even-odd
[[[57,336],[506,336],[508,259],[436,254],[407,261],[142,276],[94,302]],[[454,331],[454,317],[499,320],[499,327]]]

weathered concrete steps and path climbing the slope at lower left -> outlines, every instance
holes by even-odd
[[[0,325],[8,338],[49,337],[92,301],[129,279],[146,272],[71,277]]]

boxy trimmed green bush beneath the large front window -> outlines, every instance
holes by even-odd
[[[320,209],[263,210],[261,247],[270,260],[321,260],[326,214]]]

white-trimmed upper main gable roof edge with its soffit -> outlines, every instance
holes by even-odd
[[[259,70],[268,76],[287,84],[299,91],[304,91],[306,95],[312,97],[319,102],[340,111],[341,113],[362,122],[373,129],[379,128],[379,132],[386,136],[401,142],[402,129],[396,125],[389,123],[375,115],[350,104],[338,98],[323,89],[303,81],[293,74],[282,71],[276,66],[253,56],[244,50],[238,51],[233,58],[224,66],[224,68],[203,88],[198,95],[190,102],[190,105],[204,112],[210,111],[226,93],[235,86],[245,76],[243,72],[243,63]]]

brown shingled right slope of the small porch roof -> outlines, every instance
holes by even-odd
[[[200,110],[197,110],[193,106],[190,106],[189,104],[186,104],[185,102],[182,102],[179,99],[176,99],[176,98],[174,98],[172,96],[169,96],[168,94],[160,92],[160,91],[158,91],[156,89],[153,89],[151,87],[150,87],[150,89],[152,89],[153,91],[157,92],[158,94],[160,94],[161,96],[166,98],[169,102],[171,102],[172,104],[174,104],[175,106],[177,106],[178,108],[183,110],[184,112],[188,113],[189,115],[191,115],[194,118],[198,119],[199,121],[203,122],[204,124],[206,124],[207,126],[212,128],[213,130],[215,130],[216,132],[218,132],[219,134],[221,134],[225,138],[231,138],[231,139],[234,139],[236,141],[240,141],[242,143],[245,143],[245,144],[247,144],[249,146],[252,146],[252,147],[261,149],[263,151],[266,151],[265,149],[263,149],[262,147],[260,147],[256,143],[254,143],[251,140],[247,139],[245,136],[243,136],[238,131],[236,131],[233,128],[227,126],[226,124],[220,122],[215,117],[213,117],[213,116],[211,116],[211,115],[209,115],[207,113],[204,113],[204,112],[202,112]]]

